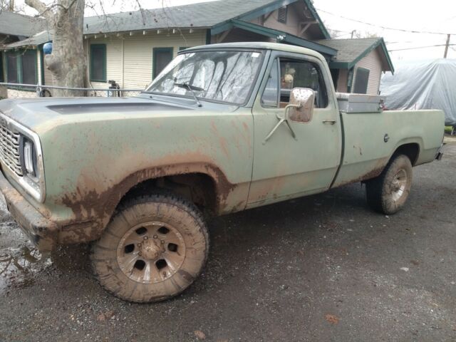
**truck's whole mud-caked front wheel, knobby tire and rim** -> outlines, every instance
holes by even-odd
[[[121,204],[93,244],[95,277],[111,294],[135,302],[180,294],[199,276],[209,251],[201,212],[175,195]]]

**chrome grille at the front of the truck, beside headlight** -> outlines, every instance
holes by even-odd
[[[0,160],[16,175],[23,176],[19,157],[19,133],[12,131],[4,122],[0,122]]]

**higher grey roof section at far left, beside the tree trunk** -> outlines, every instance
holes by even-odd
[[[9,11],[0,11],[0,33],[9,36],[33,36],[46,28],[46,21]]]

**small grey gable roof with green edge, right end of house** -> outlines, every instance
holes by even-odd
[[[317,43],[337,50],[336,57],[330,63],[331,68],[353,68],[368,53],[378,48],[383,70],[394,73],[393,62],[383,38],[323,39]]]

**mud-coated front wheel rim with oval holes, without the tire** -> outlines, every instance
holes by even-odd
[[[117,261],[129,279],[142,284],[165,281],[185,260],[182,234],[164,222],[137,224],[120,239]]]

